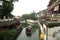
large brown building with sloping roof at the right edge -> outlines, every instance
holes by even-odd
[[[53,4],[49,4],[46,14],[47,20],[60,20],[60,0],[56,0]]]

